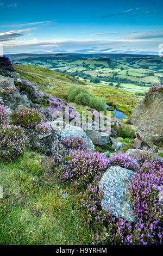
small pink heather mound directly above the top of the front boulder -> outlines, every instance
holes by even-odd
[[[110,166],[121,166],[122,168],[129,170],[135,170],[139,167],[139,164],[137,164],[137,162],[130,156],[124,153],[118,153],[114,154],[114,156],[109,159],[108,167]]]

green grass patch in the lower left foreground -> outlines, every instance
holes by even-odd
[[[29,151],[14,163],[0,163],[0,245],[90,244],[91,231],[80,228],[74,191],[55,182],[30,185],[41,174],[41,158]]]

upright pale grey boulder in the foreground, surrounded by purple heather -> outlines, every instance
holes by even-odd
[[[120,166],[111,166],[99,181],[99,188],[104,192],[101,202],[103,210],[110,211],[115,217],[134,222],[128,186],[134,172]]]

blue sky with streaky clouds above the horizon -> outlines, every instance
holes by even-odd
[[[162,9],[162,0],[0,0],[0,49],[158,55]]]

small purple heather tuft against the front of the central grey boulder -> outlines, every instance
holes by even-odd
[[[71,149],[86,149],[86,142],[80,137],[72,136],[70,138],[62,139],[61,143]]]

